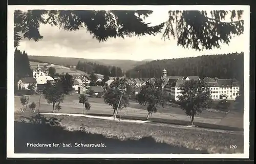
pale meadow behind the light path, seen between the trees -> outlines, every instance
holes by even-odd
[[[51,112],[52,105],[47,104],[43,97],[41,97],[40,103],[40,112]],[[30,96],[30,103],[36,103],[36,111],[38,111],[39,107],[39,97],[38,96]],[[87,114],[106,114],[112,115],[113,109],[103,102],[101,98],[89,98],[89,102],[92,105],[91,110],[87,112]],[[78,102],[78,95],[69,95],[66,96],[63,103],[61,103],[62,109],[57,112],[61,113],[82,113],[82,104]],[[22,107],[20,104],[20,98],[15,97],[15,110],[19,111]],[[131,102],[130,106],[124,108],[121,111],[121,117],[134,117],[145,119],[147,115],[147,111],[145,110],[145,106],[141,106],[138,103]],[[163,122],[166,123],[177,123],[177,124],[187,124],[189,121],[189,117],[184,115],[184,112],[178,108],[173,106],[168,106],[166,108],[160,108],[159,112],[153,113],[150,117],[150,120],[165,120]],[[169,121],[168,121],[169,120]],[[197,115],[195,118],[196,123],[203,123],[203,124],[212,124],[218,126],[230,126],[243,129],[243,113],[239,112],[229,112],[228,114],[221,113],[221,112],[209,112],[203,111],[202,114]],[[206,125],[208,127],[208,125]],[[218,127],[217,127],[218,128]],[[225,128],[226,129],[226,128]]]

